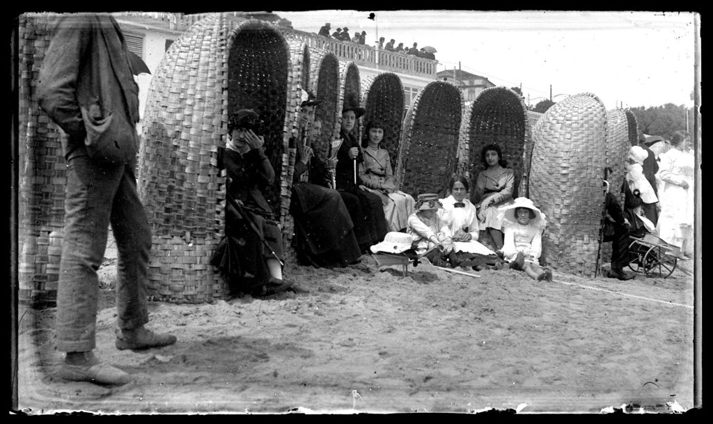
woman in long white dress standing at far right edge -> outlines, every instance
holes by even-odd
[[[693,253],[694,157],[688,151],[689,138],[677,131],[671,140],[673,148],[659,155],[661,180],[659,196],[661,214],[657,229],[659,237],[681,248],[682,254]]]

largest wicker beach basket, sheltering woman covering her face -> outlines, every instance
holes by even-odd
[[[153,298],[195,303],[227,294],[210,257],[224,231],[225,170],[216,165],[229,113],[260,114],[276,175],[265,197],[277,217],[287,214],[287,144],[302,78],[290,70],[289,46],[271,24],[225,14],[207,15],[165,53],[149,88],[138,175],[153,227]]]

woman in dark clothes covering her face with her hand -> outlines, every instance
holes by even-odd
[[[270,205],[262,195],[275,181],[262,146],[260,117],[254,110],[242,109],[230,115],[225,148],[218,152],[218,167],[227,172],[225,236],[211,258],[233,293],[255,295],[279,291],[297,291],[291,281],[282,278],[282,233]],[[267,246],[265,242],[267,242]]]

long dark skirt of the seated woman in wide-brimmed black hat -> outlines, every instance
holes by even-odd
[[[354,223],[354,235],[361,252],[369,252],[369,247],[381,242],[389,230],[386,227],[384,207],[381,199],[364,190],[356,192],[339,191],[349,216]]]

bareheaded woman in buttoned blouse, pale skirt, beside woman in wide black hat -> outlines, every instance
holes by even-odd
[[[389,231],[404,231],[409,215],[414,213],[414,197],[397,189],[389,152],[379,147],[384,138],[384,124],[371,120],[366,123],[364,132],[366,135],[361,142],[364,162],[359,163],[361,183],[381,198]]]

